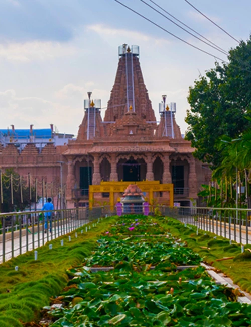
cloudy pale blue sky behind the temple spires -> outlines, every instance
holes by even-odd
[[[140,0],[120,0],[197,47],[227,56],[194,39]],[[149,0],[146,2],[150,3]],[[229,50],[237,42],[185,0],[155,0],[165,10]],[[238,40],[249,38],[250,0],[191,0]],[[0,129],[49,128],[77,134],[83,99],[107,106],[118,63],[118,46],[140,46],[140,62],[159,119],[162,94],[176,102],[182,133],[189,87],[214,66],[210,57],[175,39],[114,0],[0,0]]]

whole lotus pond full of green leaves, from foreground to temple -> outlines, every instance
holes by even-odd
[[[165,237],[151,237],[150,227]],[[85,266],[67,271],[71,280],[54,299],[63,307],[46,308],[51,325],[250,326],[251,307],[236,302],[232,290],[213,282],[203,267],[176,271],[177,265],[198,265],[201,258],[163,228],[158,233],[158,227],[150,217],[118,218]],[[91,272],[91,266],[113,269]]]

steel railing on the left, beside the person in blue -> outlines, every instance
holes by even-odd
[[[87,208],[1,213],[0,263],[43,246],[90,221]]]

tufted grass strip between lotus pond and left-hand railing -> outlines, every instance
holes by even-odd
[[[0,265],[0,326],[20,327],[22,322],[38,319],[41,308],[50,303],[50,297],[59,294],[67,284],[66,270],[90,255],[96,239],[114,219],[103,220],[87,233],[80,233],[85,226],[79,228],[77,238],[74,231],[47,242],[37,249],[37,261],[34,251],[30,251]],[[68,235],[71,235],[71,242]],[[64,239],[64,246],[60,244],[61,239]],[[53,244],[52,250],[49,244]],[[19,267],[18,271],[15,266]]]

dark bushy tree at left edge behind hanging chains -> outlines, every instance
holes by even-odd
[[[13,178],[13,203],[11,200],[11,175]],[[13,212],[24,211],[30,203],[30,190],[24,181],[22,181],[22,195],[23,202],[21,201],[21,187],[20,175],[13,169],[7,169],[2,173],[2,186],[3,186],[3,203],[0,201],[0,212]],[[31,202],[35,202],[35,189],[31,187]]]

